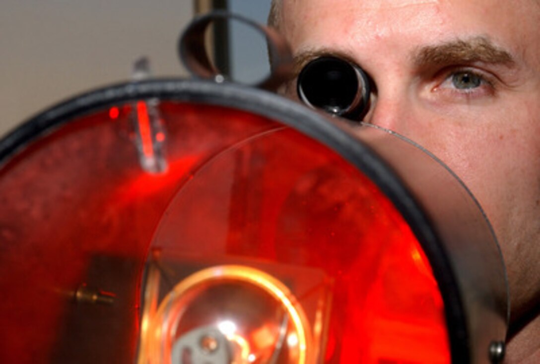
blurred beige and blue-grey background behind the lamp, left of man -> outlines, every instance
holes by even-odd
[[[266,22],[271,0],[2,0],[0,136],[38,112],[97,87],[129,81],[148,57],[155,77],[187,77],[178,36],[197,13],[227,9]],[[268,69],[266,45],[237,23],[216,28],[217,65],[252,82]]]

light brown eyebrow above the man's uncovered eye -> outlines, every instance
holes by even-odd
[[[422,47],[415,52],[414,64],[421,68],[429,65],[464,63],[502,64],[508,67],[516,64],[511,54],[497,47],[485,37],[468,40],[454,40],[434,46]]]

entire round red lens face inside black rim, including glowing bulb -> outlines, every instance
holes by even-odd
[[[157,107],[164,173],[140,167],[131,104],[73,120],[0,170],[4,362],[141,360],[144,312],[149,327],[176,315],[158,339],[180,358],[195,355],[185,342],[226,355],[219,343],[236,340],[227,355],[247,362],[450,362],[430,264],[369,178],[261,116]],[[176,311],[160,316],[175,287]],[[186,336],[208,326],[215,337]]]

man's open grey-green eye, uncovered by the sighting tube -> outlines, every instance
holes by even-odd
[[[467,100],[489,97],[495,94],[495,81],[486,72],[472,68],[458,68],[442,73],[442,81],[434,88],[434,92],[448,97],[465,98]]]

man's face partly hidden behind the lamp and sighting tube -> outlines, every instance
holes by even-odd
[[[480,201],[509,274],[505,363],[540,362],[538,2],[284,0],[278,8],[298,70],[320,54],[362,67],[376,86],[365,121],[426,147]],[[287,90],[295,97],[294,81]]]

